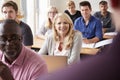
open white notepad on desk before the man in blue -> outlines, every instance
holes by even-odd
[[[86,43],[82,43],[82,48],[99,48],[105,45],[108,45],[112,43],[112,39],[106,39],[106,40],[102,40],[99,41],[97,43],[90,43],[90,44],[86,44]]]

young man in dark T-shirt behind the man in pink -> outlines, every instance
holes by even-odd
[[[23,21],[19,20],[18,16],[18,5],[13,0],[8,0],[5,2],[1,7],[1,12],[3,14],[4,19],[13,19],[15,20],[22,30],[22,37],[23,37],[23,44],[31,48],[33,45],[33,34],[31,28],[28,24],[24,23]]]

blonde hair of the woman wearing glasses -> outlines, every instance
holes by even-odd
[[[54,10],[56,11],[56,13],[58,13],[58,10],[57,10],[56,7],[54,7],[54,6],[49,6],[49,7],[48,7],[48,10],[47,10],[47,21],[46,21],[46,23],[45,23],[45,27],[48,28],[48,29],[52,29],[52,21],[51,21],[51,19],[48,17],[49,12],[51,11],[51,9],[54,9]]]

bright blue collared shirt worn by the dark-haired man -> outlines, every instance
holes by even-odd
[[[74,29],[82,33],[83,38],[91,39],[98,37],[102,39],[102,24],[101,21],[94,16],[90,17],[88,25],[85,24],[83,17],[79,17],[75,20]]]

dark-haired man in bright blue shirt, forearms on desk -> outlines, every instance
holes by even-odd
[[[82,17],[77,18],[74,23],[74,29],[79,30],[83,35],[85,43],[95,43],[102,40],[101,21],[91,15],[91,5],[88,1],[80,2],[80,11]]]

